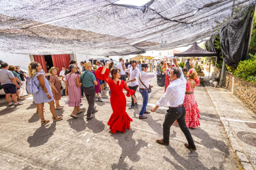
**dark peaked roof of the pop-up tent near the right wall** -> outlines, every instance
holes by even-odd
[[[194,42],[192,46],[184,52],[179,54],[174,54],[177,57],[213,57],[217,56],[216,52],[210,52],[202,49],[197,45],[197,42]]]

